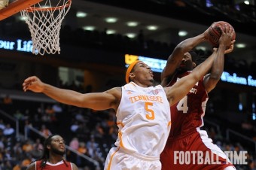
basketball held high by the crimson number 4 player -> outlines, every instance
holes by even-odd
[[[212,45],[212,47],[218,47],[218,40],[219,38],[221,38],[221,29],[219,28],[219,26],[221,26],[221,28],[225,31],[225,24],[233,28],[230,23],[218,21],[212,23],[212,26],[210,26],[209,29],[206,31],[206,37],[208,38],[209,43]],[[236,39],[236,32],[233,35],[232,41],[234,39]]]

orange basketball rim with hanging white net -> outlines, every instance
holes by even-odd
[[[45,0],[20,11],[29,26],[32,53],[60,53],[59,30],[71,3],[72,0]]]

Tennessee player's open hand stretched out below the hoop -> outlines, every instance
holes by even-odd
[[[31,90],[35,93],[41,93],[44,90],[44,83],[36,76],[28,77],[23,82],[23,90],[24,92]]]

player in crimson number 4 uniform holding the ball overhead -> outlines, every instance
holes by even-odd
[[[223,33],[224,30],[221,29],[221,32]],[[234,30],[225,26],[225,32],[227,35],[222,34],[219,43],[220,46],[230,46],[224,52],[230,53],[233,51],[235,41],[232,41],[231,45],[227,44],[227,38],[233,36]],[[197,66],[198,56],[192,49],[203,41],[206,41],[205,33],[188,38],[175,47],[161,74],[163,87],[172,86]],[[203,126],[208,93],[215,88],[224,69],[224,53],[221,53],[223,56],[215,58],[211,72],[198,81],[187,96],[171,106],[171,131],[166,147],[160,155],[163,170],[236,169],[224,152],[217,145],[212,144],[212,139],[208,138],[206,131],[200,130]],[[199,155],[199,153],[203,154]],[[181,159],[182,156],[187,162]]]

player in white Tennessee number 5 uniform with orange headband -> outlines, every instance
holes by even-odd
[[[231,41],[231,38],[230,38]],[[166,144],[170,129],[169,105],[181,100],[194,84],[212,66],[218,53],[215,50],[203,64],[191,74],[182,77],[172,87],[152,87],[153,72],[145,62],[133,62],[126,71],[126,84],[102,93],[78,93],[43,83],[38,77],[26,78],[23,90],[44,93],[58,102],[81,108],[117,112],[119,127],[116,147],[112,148],[105,161],[105,170],[160,170],[160,153]]]

